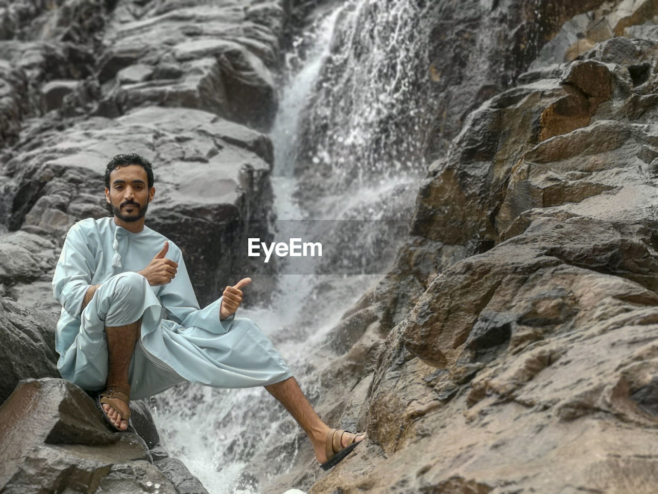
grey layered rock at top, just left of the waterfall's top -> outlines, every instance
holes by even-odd
[[[266,22],[259,14],[264,9]],[[213,111],[260,129],[272,123],[272,67],[284,23],[278,3],[181,5],[168,12],[147,4],[138,15],[122,9],[117,18],[99,63],[104,94],[97,115],[116,117],[155,104]],[[193,29],[193,22],[203,22],[203,30]]]

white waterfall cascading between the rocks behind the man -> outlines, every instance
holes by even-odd
[[[348,239],[359,265],[374,266],[345,275],[338,263],[347,249],[313,273],[290,274],[284,260],[271,304],[240,309],[273,341],[312,403],[322,389],[311,350],[385,272],[426,170],[417,139],[425,118],[417,90],[421,13],[413,0],[347,1],[318,16],[286,59],[288,83],[272,129],[272,228],[280,238],[303,228],[314,238]],[[182,385],[151,404],[170,454],[211,493],[259,492],[257,476],[286,473],[306,441],[262,388]]]

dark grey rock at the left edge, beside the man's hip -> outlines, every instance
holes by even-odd
[[[53,314],[0,298],[0,403],[20,379],[59,377]]]

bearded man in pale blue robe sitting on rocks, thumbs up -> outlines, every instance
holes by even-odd
[[[105,171],[113,217],[71,227],[55,269],[62,304],[55,346],[62,377],[88,391],[116,430],[128,428],[130,398],[183,381],[215,387],[265,386],[309,436],[325,470],[364,434],[330,429],[304,397],[288,366],[249,319],[235,318],[245,278],[199,309],[180,249],[145,226],[153,171],[134,153]]]

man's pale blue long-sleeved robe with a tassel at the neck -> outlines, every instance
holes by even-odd
[[[174,242],[148,227],[130,233],[115,225],[113,218],[82,220],[71,227],[64,241],[53,278],[53,295],[62,305],[55,336],[62,376],[84,389],[105,385],[104,323],[88,314],[91,307],[81,311],[84,296],[92,285],[101,285],[94,298],[106,296],[103,284],[120,273],[146,267],[165,241],[169,242],[166,258],[178,263],[178,272],[170,283],[145,289],[139,339],[145,358],[133,360],[175,375],[165,375],[163,382],[149,375],[142,379],[148,383],[134,383],[138,395],[162,391],[179,376],[216,387],[266,385],[290,377],[283,359],[252,321],[234,316],[220,321],[221,298],[199,308]],[[133,369],[135,365],[131,363],[132,374],[144,375]]]

